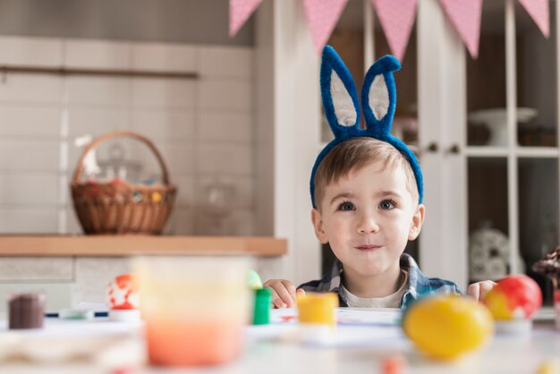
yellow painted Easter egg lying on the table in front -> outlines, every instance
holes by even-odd
[[[469,297],[436,295],[411,305],[403,329],[423,353],[454,360],[484,344],[494,331],[494,321],[485,306]]]

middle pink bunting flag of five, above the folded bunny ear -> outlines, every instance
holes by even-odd
[[[391,53],[403,61],[416,15],[416,0],[371,0],[371,4],[378,13]]]

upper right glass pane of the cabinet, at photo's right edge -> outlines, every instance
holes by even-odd
[[[517,29],[517,135],[522,146],[556,147],[556,2],[549,2],[550,38],[520,4]]]

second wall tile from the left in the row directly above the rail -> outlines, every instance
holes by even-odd
[[[106,40],[70,39],[65,41],[66,67],[123,69],[132,66],[130,43]]]

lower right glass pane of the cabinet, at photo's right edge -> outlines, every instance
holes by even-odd
[[[555,158],[519,160],[519,242],[522,263],[552,305],[550,281],[531,271],[532,265],[558,245],[558,161]]]

